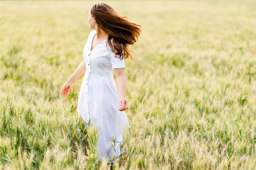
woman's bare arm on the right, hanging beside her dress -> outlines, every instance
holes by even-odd
[[[126,77],[124,68],[115,68],[116,86],[119,93],[119,111],[124,111],[128,108],[128,103],[125,100]]]

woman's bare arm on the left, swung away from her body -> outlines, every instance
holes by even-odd
[[[86,71],[86,65],[85,64],[86,63],[83,59],[83,61],[81,61],[81,63],[79,63],[79,65],[77,66],[75,72],[72,73],[72,75],[68,78],[67,82],[65,82],[65,84],[63,84],[63,86],[60,90],[60,96],[65,97],[66,95],[68,95],[70,89],[72,88],[72,84],[74,82],[76,82],[77,79],[79,77],[81,77],[81,75],[83,75],[83,73]]]

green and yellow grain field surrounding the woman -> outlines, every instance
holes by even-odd
[[[98,1],[0,1],[0,167],[108,169],[95,128],[77,132],[83,60]],[[256,2],[103,1],[140,24],[125,60],[125,155],[116,169],[256,167]]]

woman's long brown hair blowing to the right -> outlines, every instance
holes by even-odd
[[[132,59],[134,52],[128,49],[128,45],[133,45],[138,40],[141,26],[130,22],[128,17],[120,15],[105,3],[93,4],[90,13],[100,29],[108,34],[109,47],[116,56],[120,59],[130,56]]]

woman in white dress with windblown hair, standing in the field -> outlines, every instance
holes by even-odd
[[[84,74],[77,102],[78,116],[86,128],[91,124],[98,128],[100,160],[103,157],[113,160],[124,153],[120,144],[125,125],[129,127],[125,112],[128,104],[125,99],[124,59],[132,58],[127,46],[138,40],[141,26],[129,22],[127,17],[119,15],[105,3],[93,4],[88,23],[94,30],[84,45],[84,59],[65,82],[60,95],[68,95],[72,84]]]

